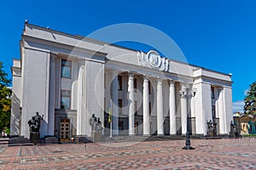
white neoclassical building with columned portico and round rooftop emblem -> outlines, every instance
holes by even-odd
[[[188,126],[206,135],[210,120],[218,134],[230,132],[231,76],[153,50],[25,24],[12,74],[11,135],[29,138],[27,122],[36,112],[44,115],[41,138],[90,136],[92,114],[105,136],[181,135]]]

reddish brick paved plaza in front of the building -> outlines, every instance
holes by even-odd
[[[256,139],[0,145],[0,169],[256,169]]]

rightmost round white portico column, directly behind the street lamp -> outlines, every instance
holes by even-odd
[[[184,83],[181,84],[181,92],[183,92],[183,94],[181,94],[181,101],[180,101],[180,105],[181,105],[181,126],[182,126],[182,134],[185,135],[187,133],[187,98],[186,98],[186,94],[187,94],[187,89],[186,89],[186,85]]]

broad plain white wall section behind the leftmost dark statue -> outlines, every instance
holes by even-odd
[[[48,134],[49,111],[49,53],[24,50],[22,63],[23,92],[22,92],[22,121],[21,133],[29,137],[27,122],[39,112],[44,120],[41,121],[40,135]]]

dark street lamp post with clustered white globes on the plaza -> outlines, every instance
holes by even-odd
[[[185,99],[187,99],[187,133],[186,133],[186,143],[185,146],[183,147],[183,150],[195,150],[190,144],[190,139],[189,139],[189,99],[192,97],[195,97],[196,94],[196,88],[193,88],[192,90],[189,89],[189,84],[184,89],[181,89],[179,91],[179,95]]]

